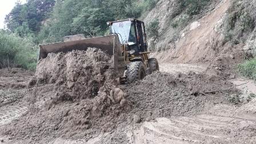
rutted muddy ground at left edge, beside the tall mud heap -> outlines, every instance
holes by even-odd
[[[0,127],[26,113],[27,105],[22,102],[26,85],[33,73],[22,69],[0,71]]]

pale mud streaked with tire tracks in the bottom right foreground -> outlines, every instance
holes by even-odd
[[[215,111],[215,107],[212,110]],[[133,135],[131,143],[255,142],[255,121],[232,115],[226,110],[226,114],[220,115],[209,113],[194,117],[157,118],[155,122],[143,123],[139,129],[130,129],[130,135]]]

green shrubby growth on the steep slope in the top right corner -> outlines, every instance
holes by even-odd
[[[256,3],[234,1],[225,18],[225,41],[245,43],[256,26]]]

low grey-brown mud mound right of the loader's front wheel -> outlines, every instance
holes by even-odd
[[[122,89],[132,103],[132,113],[144,120],[202,113],[207,106],[229,103],[226,94],[236,91],[231,82],[221,77],[194,72],[177,75],[157,72]]]

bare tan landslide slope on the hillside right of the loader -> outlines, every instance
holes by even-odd
[[[174,2],[160,1],[145,21],[163,17],[161,23],[167,23],[173,14]],[[217,75],[225,78],[235,77],[235,66],[245,59],[243,44],[231,45],[225,41],[225,19],[232,3],[230,0],[216,1],[213,9],[209,9],[201,18],[195,18],[185,28],[178,31],[180,37],[175,42],[170,42],[169,37],[174,35],[173,28],[161,27],[161,38],[158,39],[157,49],[164,51],[153,54],[161,63],[193,63],[207,65],[208,71],[213,70]],[[158,10],[159,6],[163,9]],[[170,8],[167,8],[167,7]],[[163,12],[163,11],[166,12]],[[167,25],[167,24],[165,24]],[[167,50],[166,50],[167,49]]]

